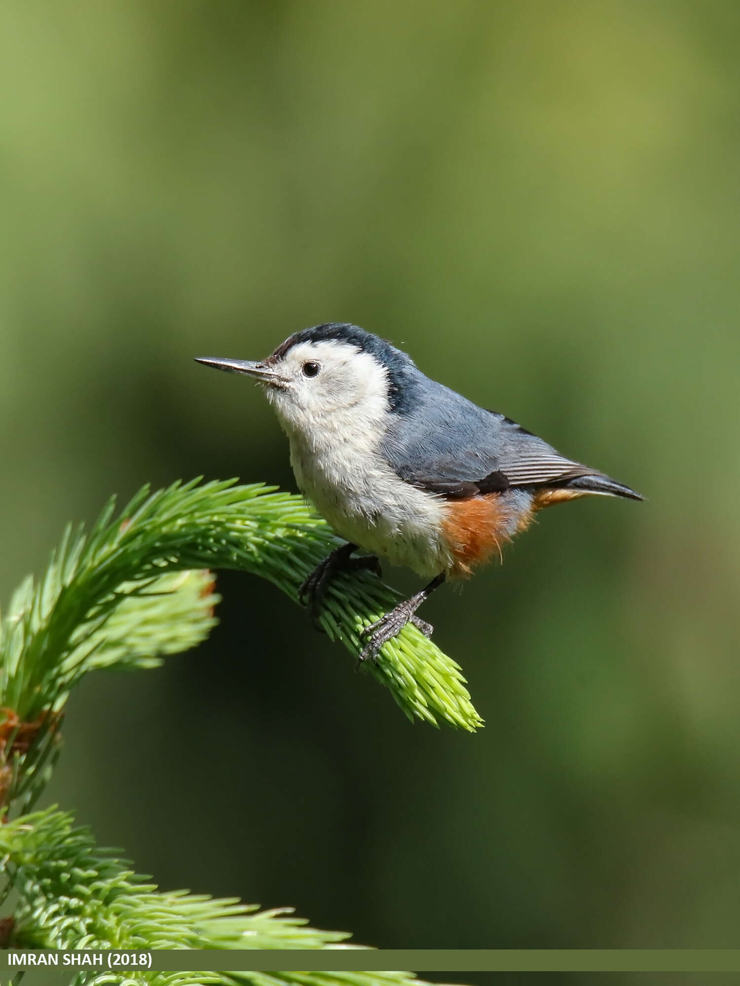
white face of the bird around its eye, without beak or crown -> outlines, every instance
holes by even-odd
[[[274,375],[260,383],[289,433],[349,436],[375,430],[388,412],[388,372],[349,343],[300,342],[261,365]]]

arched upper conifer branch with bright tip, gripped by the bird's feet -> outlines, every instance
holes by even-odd
[[[107,505],[89,534],[67,528],[44,577],[27,579],[0,624],[0,702],[22,722],[58,712],[89,670],[148,667],[192,646],[212,625],[214,599],[196,599],[207,568],[251,572],[297,601],[306,575],[338,538],[298,496],[234,481],[141,490],[114,517]],[[341,573],[320,622],[355,656],[360,632],[398,595],[370,572]],[[475,731],[481,719],[460,668],[415,627],[363,666],[409,718]]]

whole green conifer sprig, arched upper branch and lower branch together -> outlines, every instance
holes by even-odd
[[[297,601],[306,575],[338,543],[300,497],[234,481],[141,490],[90,533],[67,528],[40,581],[27,579],[0,620],[0,901],[9,944],[27,948],[332,949],[347,936],[290,910],[160,891],[57,810],[30,813],[59,753],[70,689],[88,672],[137,669],[194,646],[215,623],[211,568],[262,576]],[[321,621],[350,652],[395,594],[363,571],[337,576]],[[409,717],[481,725],[460,669],[415,628],[365,667]],[[16,816],[11,819],[11,812]],[[19,813],[20,812],[20,813]],[[16,977],[15,982],[20,981]],[[78,986],[117,981],[81,971]],[[130,983],[421,986],[407,973],[130,972]]]

